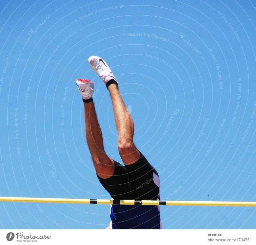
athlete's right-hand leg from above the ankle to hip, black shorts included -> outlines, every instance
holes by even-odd
[[[116,84],[108,85],[118,132],[118,151],[126,165],[134,199],[156,200],[160,182],[156,170],[133,143],[134,125]]]

